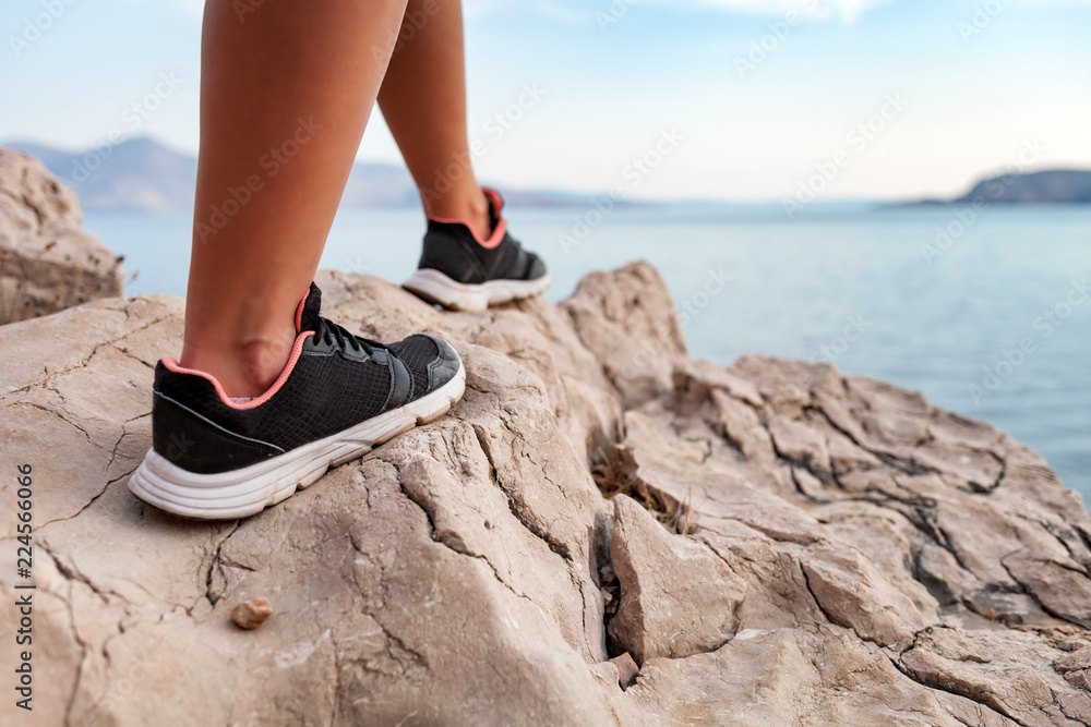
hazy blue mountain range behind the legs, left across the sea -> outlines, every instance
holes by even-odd
[[[197,160],[158,142],[139,137],[115,146],[64,152],[40,144],[3,144],[31,154],[80,195],[94,211],[183,213],[193,206]],[[513,205],[587,206],[591,196],[552,191],[505,191]],[[343,208],[415,207],[417,187],[405,167],[357,162],[352,166]]]

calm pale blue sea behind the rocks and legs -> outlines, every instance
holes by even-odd
[[[1091,499],[1091,208],[814,211],[771,208],[512,209],[553,270],[551,300],[589,270],[643,258],[685,314],[693,355],[831,361],[981,419],[1038,450]],[[185,291],[189,217],[87,215],[139,271],[127,292]],[[353,210],[323,267],[400,281],[413,210]],[[165,352],[166,353],[166,352]]]

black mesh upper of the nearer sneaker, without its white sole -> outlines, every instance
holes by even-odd
[[[442,339],[416,335],[386,347],[322,318],[320,305],[312,283],[297,314],[287,375],[256,402],[231,402],[212,377],[160,361],[154,449],[195,472],[247,467],[419,399],[458,371],[458,356]]]

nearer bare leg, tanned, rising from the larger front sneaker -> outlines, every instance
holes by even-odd
[[[245,5],[252,12],[238,13]],[[208,0],[181,365],[267,389],[322,255],[405,0]]]

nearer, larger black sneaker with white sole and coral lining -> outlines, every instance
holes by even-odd
[[[320,316],[321,299],[311,283],[288,365],[256,399],[229,399],[208,374],[159,362],[152,450],[129,480],[137,497],[190,518],[254,514],[461,398],[466,371],[446,341],[369,341]]]

